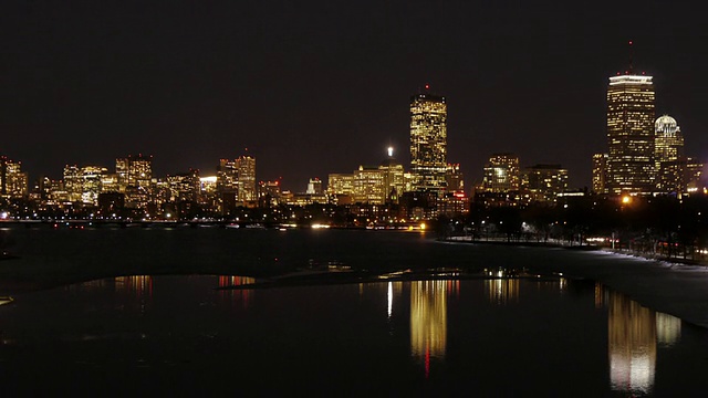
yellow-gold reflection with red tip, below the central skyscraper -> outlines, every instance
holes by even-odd
[[[410,355],[423,360],[444,358],[447,345],[447,282],[410,282]]]

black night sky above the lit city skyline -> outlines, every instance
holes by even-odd
[[[149,4],[148,4],[149,3]],[[708,158],[706,19],[675,1],[10,1],[0,3],[0,154],[30,178],[153,154],[158,176],[248,147],[258,179],[406,167],[408,103],[448,101],[448,161],[560,163],[590,185],[607,77],[654,76],[657,114]]]

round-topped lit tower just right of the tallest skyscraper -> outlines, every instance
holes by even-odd
[[[681,192],[684,189],[684,136],[676,119],[664,115],[654,124],[654,160],[656,189],[659,192]]]

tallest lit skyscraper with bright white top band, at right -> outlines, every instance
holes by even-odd
[[[610,77],[607,86],[607,180],[611,193],[655,189],[654,83],[652,76]]]

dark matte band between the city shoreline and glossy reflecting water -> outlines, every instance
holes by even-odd
[[[708,327],[708,269],[558,242],[438,241],[421,233],[257,229],[25,229],[19,258],[0,263],[0,295],[123,275],[210,274],[269,279],[341,264],[381,275],[402,270],[528,270],[601,282],[645,306]],[[550,243],[550,244],[549,244]],[[429,275],[426,275],[429,277]]]

